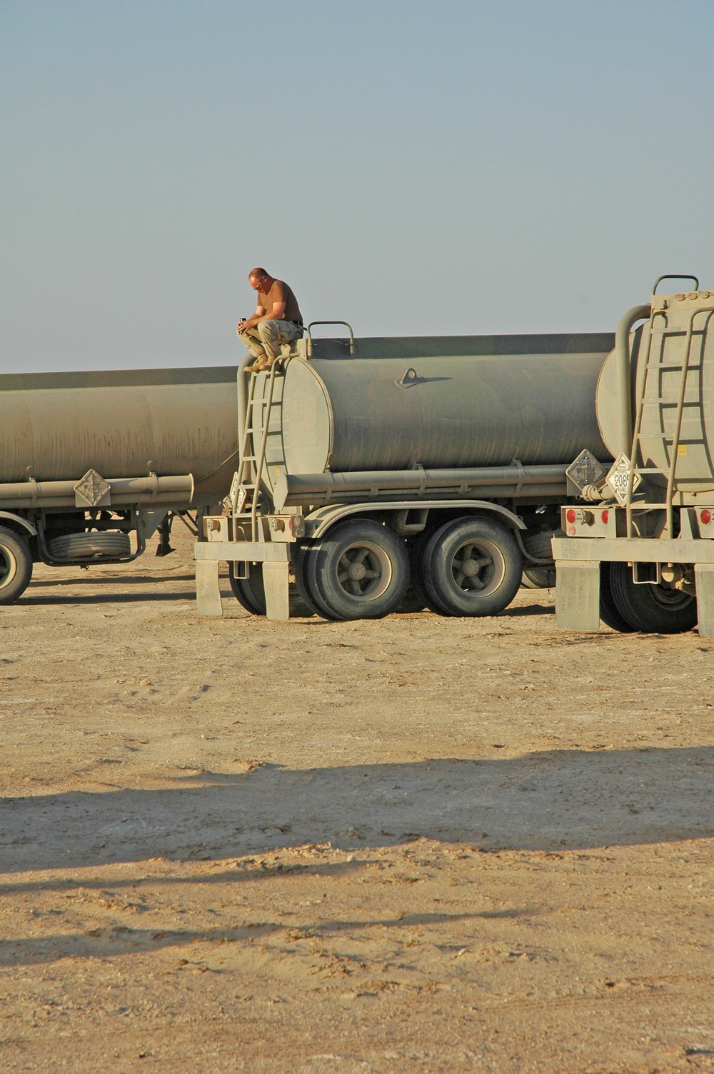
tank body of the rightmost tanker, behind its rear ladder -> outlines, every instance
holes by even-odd
[[[659,488],[667,485],[682,398],[674,492],[714,489],[709,435],[710,430],[714,431],[714,337],[710,331],[713,299],[711,291],[658,294],[652,300],[651,319],[630,336],[630,427],[635,427],[638,400],[644,397],[637,462],[650,471],[647,480]],[[602,366],[596,391],[600,434],[613,454],[621,450],[617,367],[617,354],[613,351]],[[649,369],[646,388],[645,368]],[[631,447],[627,445],[622,450],[629,455]]]

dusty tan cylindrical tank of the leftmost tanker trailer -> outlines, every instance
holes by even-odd
[[[192,474],[217,503],[236,469],[236,367],[0,376],[0,483]]]

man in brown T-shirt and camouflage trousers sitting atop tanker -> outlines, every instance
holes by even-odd
[[[269,369],[280,353],[280,344],[302,337],[303,315],[288,285],[264,268],[252,268],[248,282],[258,291],[258,305],[252,317],[238,321],[235,331],[256,359],[247,369],[256,373]]]

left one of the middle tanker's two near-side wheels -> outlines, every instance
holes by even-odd
[[[352,519],[331,529],[307,557],[307,581],[326,619],[382,619],[404,599],[409,557],[392,529],[371,519]]]

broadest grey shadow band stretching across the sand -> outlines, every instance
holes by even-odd
[[[483,760],[202,772],[167,789],[0,799],[4,871],[223,859],[426,836],[573,850],[714,834],[714,748],[567,750]],[[104,770],[98,769],[106,779]]]

